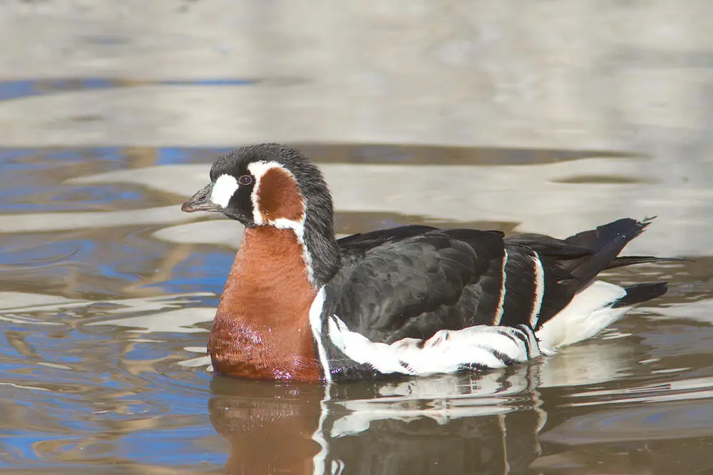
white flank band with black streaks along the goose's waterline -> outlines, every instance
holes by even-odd
[[[334,315],[329,319],[329,338],[349,358],[371,364],[385,374],[453,373],[466,365],[501,368],[540,355],[535,335],[525,327],[478,325],[463,330],[440,330],[425,342],[404,338],[386,344],[371,342],[352,332]]]

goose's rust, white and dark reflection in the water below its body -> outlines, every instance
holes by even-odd
[[[208,409],[228,474],[516,473],[540,453],[539,372],[327,387],[215,377]]]

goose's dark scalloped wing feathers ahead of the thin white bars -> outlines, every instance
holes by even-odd
[[[415,231],[381,233],[380,245],[366,249],[359,247],[364,237],[351,237],[347,254],[352,265],[327,285],[331,305],[324,312],[339,316],[349,330],[372,342],[425,339],[438,330],[475,325],[479,307],[485,310],[484,302],[498,297],[483,293],[481,285],[500,285],[502,233],[427,228],[409,235]],[[374,236],[368,240],[373,244]],[[495,305],[490,307],[487,319]]]

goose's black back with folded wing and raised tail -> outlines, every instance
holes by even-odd
[[[537,330],[601,270],[656,260],[617,261],[624,245],[647,225],[623,219],[565,240],[429,226],[344,237],[337,241],[342,268],[327,285],[323,315],[337,315],[349,330],[384,343],[428,339],[438,330],[473,325],[530,325],[533,312],[536,321],[530,326]],[[544,277],[539,311],[535,259]]]

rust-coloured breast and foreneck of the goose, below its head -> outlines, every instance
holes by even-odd
[[[302,245],[292,230],[247,228],[215,315],[208,353],[220,374],[319,381]]]

